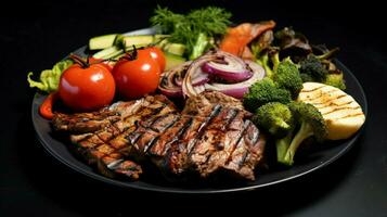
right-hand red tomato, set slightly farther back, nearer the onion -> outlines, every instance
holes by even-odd
[[[142,51],[139,50],[134,58],[121,58],[113,68],[118,92],[127,99],[141,98],[154,92],[158,86],[160,66]]]

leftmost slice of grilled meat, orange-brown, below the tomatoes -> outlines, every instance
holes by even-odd
[[[173,112],[175,105],[169,100],[155,95],[118,102],[94,113],[55,114],[52,124],[56,130],[70,132],[77,152],[103,175],[138,179],[142,169],[128,158],[139,156],[139,152],[127,137],[138,130],[143,119]]]

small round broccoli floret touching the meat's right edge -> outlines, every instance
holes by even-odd
[[[286,136],[293,125],[291,110],[280,102],[269,102],[260,106],[253,122],[278,138]]]

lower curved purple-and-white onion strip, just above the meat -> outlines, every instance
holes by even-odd
[[[263,71],[263,68],[262,68]],[[263,71],[265,73],[265,71]],[[206,84],[205,88],[207,90],[216,90],[216,91],[220,91],[224,94],[231,95],[233,98],[236,99],[242,99],[243,95],[248,91],[248,88],[254,85],[255,82],[257,82],[258,80],[261,80],[262,77],[262,73],[254,73],[253,77],[250,77],[248,80],[245,80],[243,82],[238,82],[238,84],[219,84],[219,82],[215,82],[215,84]]]

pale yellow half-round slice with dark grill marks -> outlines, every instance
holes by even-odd
[[[338,88],[305,82],[298,101],[313,104],[327,125],[327,139],[347,139],[357,132],[365,116],[356,100]]]

